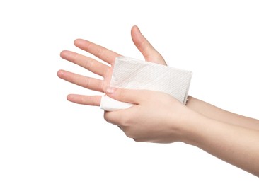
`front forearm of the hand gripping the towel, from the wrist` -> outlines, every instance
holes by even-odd
[[[259,132],[207,117],[192,117],[184,142],[259,176]]]

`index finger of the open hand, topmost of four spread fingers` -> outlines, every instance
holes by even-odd
[[[109,64],[112,64],[115,61],[115,57],[120,56],[120,54],[108,50],[105,47],[82,39],[75,40],[74,45],[76,45],[76,47],[79,47],[81,50],[85,50],[86,52],[95,55],[96,57],[102,59]]]

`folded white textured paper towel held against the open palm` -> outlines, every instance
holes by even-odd
[[[191,71],[144,62],[130,57],[116,57],[110,86],[161,91],[185,104],[191,77]],[[100,108],[107,111],[125,109],[132,105],[108,96],[103,96],[100,102]]]

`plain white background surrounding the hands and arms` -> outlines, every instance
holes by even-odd
[[[103,111],[69,103],[93,91],[57,77],[88,71],[59,57],[91,40],[143,59],[138,25],[171,67],[193,71],[190,95],[259,118],[258,1],[1,1],[0,183],[258,183],[183,143],[129,139]],[[202,128],[202,127],[200,127]]]

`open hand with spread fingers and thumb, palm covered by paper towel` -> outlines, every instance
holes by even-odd
[[[144,38],[137,26],[132,27],[131,34],[134,45],[136,45],[138,50],[143,54],[146,61],[166,65],[166,62],[164,61],[161,54],[159,54],[159,52],[157,52],[154,47],[152,47],[148,40]],[[81,39],[75,40],[74,45],[76,45],[76,47],[79,47],[81,50],[85,50],[86,52],[93,54],[94,56],[106,62],[108,65],[98,62],[96,61],[96,59],[92,59],[91,57],[86,57],[84,55],[67,50],[62,51],[60,56],[69,62],[73,62],[74,64],[78,64],[79,66],[84,67],[94,74],[102,76],[103,80],[81,76],[79,74],[74,74],[64,70],[59,70],[57,72],[57,75],[59,76],[59,78],[69,81],[73,84],[91,89],[93,91],[100,91],[104,93],[105,88],[108,87],[110,84],[110,79],[113,74],[113,64],[115,62],[115,57],[120,56],[120,54],[108,50],[100,45],[96,45],[93,42]],[[101,96],[83,96],[70,94],[69,96],[67,96],[67,99],[74,103],[98,106],[100,105]]]

